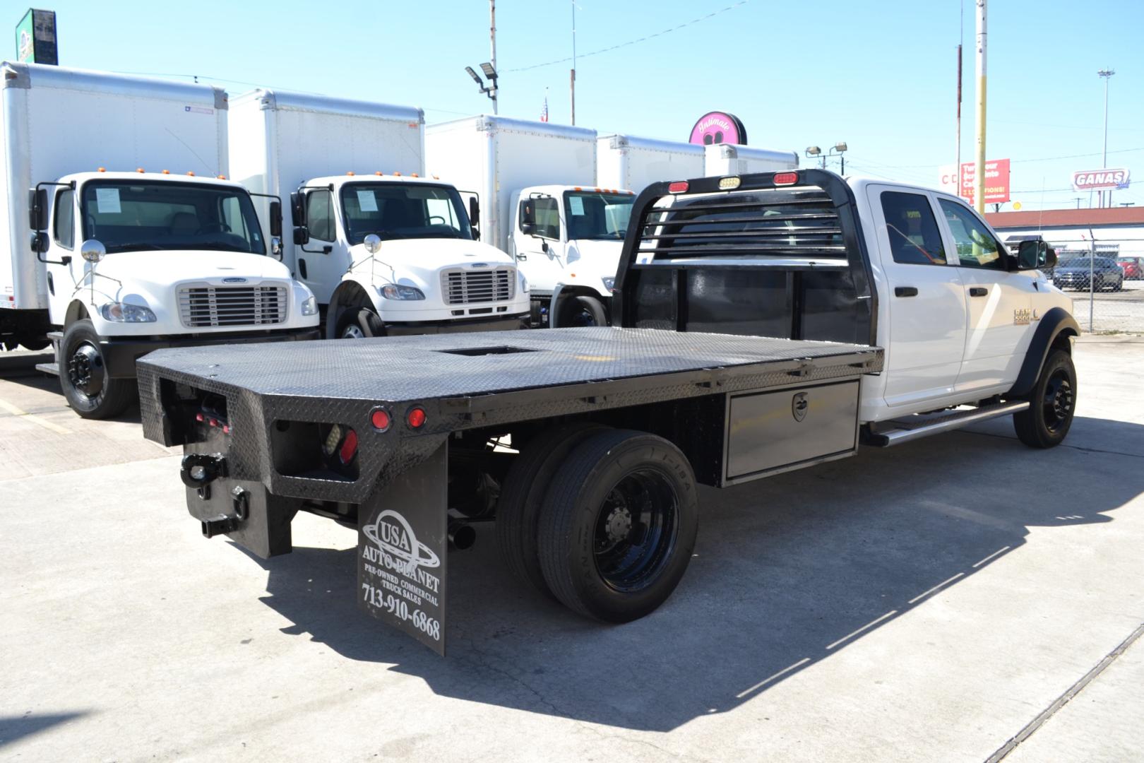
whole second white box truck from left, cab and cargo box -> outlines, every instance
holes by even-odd
[[[476,240],[476,205],[424,177],[423,146],[413,106],[269,89],[231,102],[231,172],[252,191],[289,197],[284,261],[317,295],[327,337],[527,320],[527,280]]]

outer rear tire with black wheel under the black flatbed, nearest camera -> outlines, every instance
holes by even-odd
[[[540,565],[557,599],[605,622],[662,604],[699,530],[696,477],[662,437],[597,432],[565,459],[540,510]]]

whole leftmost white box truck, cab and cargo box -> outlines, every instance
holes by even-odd
[[[0,73],[0,337],[51,341],[56,361],[39,367],[79,415],[120,413],[153,349],[318,337],[313,295],[269,256],[251,194],[224,178],[222,89],[37,64]]]

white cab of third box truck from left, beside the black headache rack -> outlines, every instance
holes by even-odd
[[[532,285],[533,319],[606,326],[635,193],[535,185],[511,197],[508,248]]]

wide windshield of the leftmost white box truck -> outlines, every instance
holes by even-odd
[[[84,185],[84,238],[108,254],[144,249],[219,249],[265,254],[249,194],[240,189],[168,181],[92,181]]]

